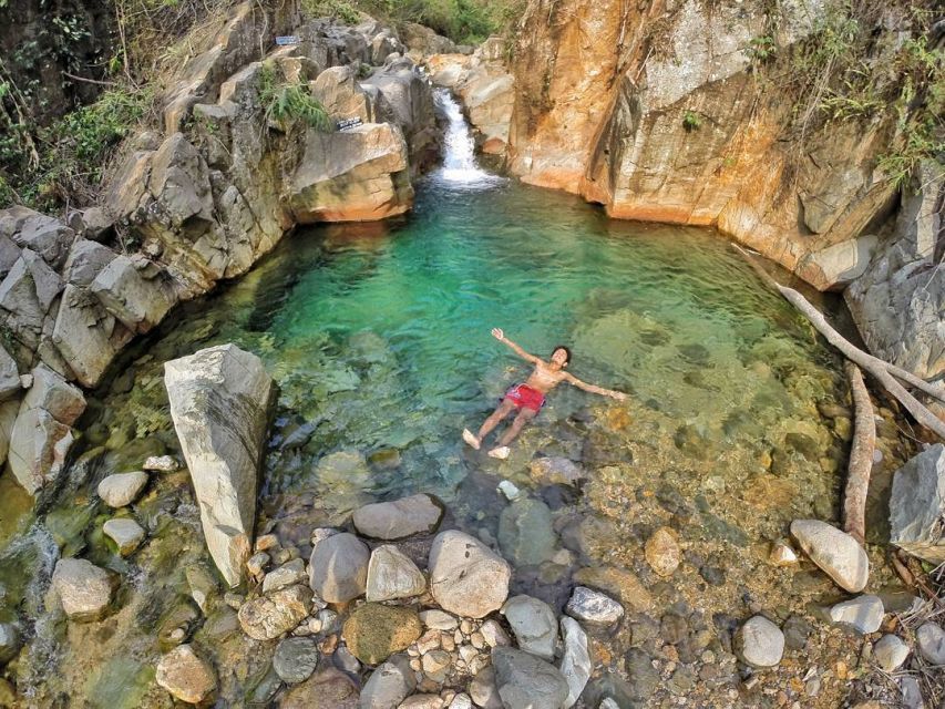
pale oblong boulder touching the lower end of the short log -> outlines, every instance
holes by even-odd
[[[870,578],[870,559],[860,543],[819,520],[794,520],[791,534],[811,561],[842,588],[856,594]]]

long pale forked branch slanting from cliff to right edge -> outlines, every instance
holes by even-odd
[[[859,364],[862,369],[866,370],[870,374],[872,374],[886,391],[888,391],[898,402],[905,407],[906,411],[908,411],[912,417],[922,425],[924,425],[929,431],[936,433],[941,439],[945,440],[945,421],[942,421],[938,417],[932,413],[928,409],[926,409],[922,402],[918,401],[915,397],[908,393],[898,381],[896,381],[896,377],[907,382],[908,384],[921,389],[922,391],[928,393],[932,397],[935,397],[939,401],[945,402],[945,392],[938,387],[934,387],[929,384],[927,381],[924,381],[912,374],[904,369],[900,369],[894,364],[890,364],[881,360],[877,357],[873,357],[867,352],[864,352],[857,347],[854,347],[850,343],[840,332],[833,329],[826,318],[823,317],[823,314],[814,308],[810,301],[804,298],[800,292],[794,290],[793,288],[788,288],[787,286],[782,286],[777,280],[774,280],[758,263],[751,257],[746,249],[740,246],[733,245],[741,254],[744,256],[746,260],[748,260],[749,265],[754,269],[754,271],[761,277],[761,279],[771,286],[774,290],[780,292],[788,302],[793,305],[798,310],[800,310],[804,317],[811,321],[811,325],[816,328],[816,330],[830,342],[833,347],[840,350],[846,359],[852,362]]]

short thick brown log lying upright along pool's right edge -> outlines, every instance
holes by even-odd
[[[870,471],[873,469],[873,449],[876,445],[876,421],[870,392],[863,373],[851,361],[843,367],[853,393],[853,444],[843,492],[843,531],[854,540],[866,542],[866,492],[870,490]]]

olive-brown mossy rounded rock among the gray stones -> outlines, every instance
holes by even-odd
[[[368,665],[378,665],[407,649],[422,631],[415,612],[368,603],[351,614],[341,637],[355,657]]]

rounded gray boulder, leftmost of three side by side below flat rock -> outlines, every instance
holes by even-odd
[[[368,546],[353,534],[332,534],[315,545],[309,559],[311,589],[328,603],[348,603],[364,593]]]

